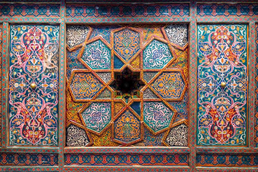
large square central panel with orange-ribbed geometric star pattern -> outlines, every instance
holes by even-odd
[[[66,146],[188,146],[188,25],[66,35]]]

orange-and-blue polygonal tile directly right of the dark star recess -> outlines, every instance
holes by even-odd
[[[163,72],[151,84],[152,88],[163,98],[181,99],[185,90],[185,80],[181,72]]]

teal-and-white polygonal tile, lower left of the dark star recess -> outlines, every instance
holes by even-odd
[[[86,128],[99,134],[106,128],[111,121],[111,103],[96,102],[90,104],[81,113]]]

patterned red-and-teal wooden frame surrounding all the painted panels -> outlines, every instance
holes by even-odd
[[[18,3],[38,3],[38,1],[7,1],[9,2],[18,2]],[[60,5],[60,16],[34,16],[34,17],[23,17],[23,16],[1,16],[0,14],[0,24],[3,25],[3,50],[2,50],[2,92],[1,92],[1,153],[44,153],[44,154],[58,154],[58,166],[0,166],[0,171],[149,171],[150,168],[153,168],[154,171],[257,171],[257,166],[222,166],[222,167],[207,167],[207,166],[196,166],[197,164],[197,154],[223,154],[223,155],[254,155],[258,153],[257,149],[257,126],[255,117],[256,105],[255,101],[256,94],[255,87],[256,81],[256,39],[257,39],[257,14],[246,14],[246,15],[219,15],[216,16],[214,13],[213,16],[200,16],[197,11],[199,4],[221,4],[221,3],[242,3],[242,4],[253,4],[258,5],[256,1],[230,1],[230,0],[212,0],[211,2],[204,0],[189,0],[181,1],[182,4],[189,5],[189,15],[188,16],[170,16],[170,17],[66,17],[66,7],[72,3],[83,3],[84,1],[73,1],[73,0],[45,0],[41,3],[54,3]],[[136,3],[143,3],[142,1],[135,1]],[[155,3],[157,1],[148,1]],[[99,3],[98,1],[92,0],[88,3]],[[109,3],[108,1],[103,1],[103,3]],[[112,1],[113,3],[121,3],[120,1]],[[126,1],[124,2],[126,3]],[[159,1],[158,3],[178,3],[171,1]],[[2,3],[0,3],[1,5]],[[40,4],[40,3],[39,3]],[[204,14],[201,14],[204,15]],[[189,137],[188,137],[188,147],[65,147],[65,83],[66,83],[66,24],[101,24],[101,23],[188,23],[189,24]],[[8,140],[8,131],[7,131],[7,104],[8,104],[8,94],[7,94],[7,85],[8,80],[4,79],[8,76],[8,38],[9,38],[9,27],[10,23],[55,23],[60,25],[60,54],[59,54],[59,144],[58,147],[9,147]],[[248,146],[247,147],[202,147],[197,146],[196,144],[196,130],[197,130],[197,25],[200,23],[246,23],[249,26],[249,60],[248,60],[248,69],[249,69],[249,100],[248,100]],[[186,45],[187,46],[187,45]],[[183,47],[184,48],[184,47]],[[128,63],[129,64],[129,63]],[[113,77],[113,76],[112,76]],[[69,166],[65,165],[65,155],[66,153],[183,153],[188,154],[189,156],[189,165],[188,166]]]

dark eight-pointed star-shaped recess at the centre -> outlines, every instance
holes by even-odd
[[[114,90],[114,97],[123,99],[126,103],[132,99],[140,98],[140,90],[143,86],[140,72],[132,72],[127,67],[122,72],[115,72],[114,81],[110,84],[110,87]]]

